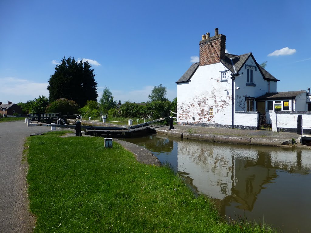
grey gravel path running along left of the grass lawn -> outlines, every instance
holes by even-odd
[[[25,121],[0,123],[0,232],[32,232],[35,217],[28,211],[26,168],[22,163],[25,137],[50,131]]]

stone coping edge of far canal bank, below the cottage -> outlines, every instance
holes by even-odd
[[[238,136],[225,136],[225,135],[203,135],[203,134],[185,134],[174,132],[171,130],[155,129],[157,134],[168,135],[172,137],[196,139],[209,142],[222,142],[233,144],[246,144],[246,145],[264,145],[264,146],[281,146],[291,145],[291,139],[274,139],[270,137],[238,137]]]

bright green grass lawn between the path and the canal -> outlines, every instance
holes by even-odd
[[[228,225],[169,168],[140,164],[116,142],[61,134],[26,142],[34,232],[266,232]]]

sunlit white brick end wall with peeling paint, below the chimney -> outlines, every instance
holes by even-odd
[[[220,82],[220,71],[224,70],[222,63],[199,66],[189,83],[177,85],[179,122],[231,124],[231,73],[227,73],[228,82]],[[213,116],[209,115],[210,107]]]

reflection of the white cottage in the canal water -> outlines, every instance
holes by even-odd
[[[251,211],[258,194],[278,176],[277,170],[309,174],[311,153],[269,147],[177,142],[178,170],[189,173],[198,191],[222,206],[237,202]]]

